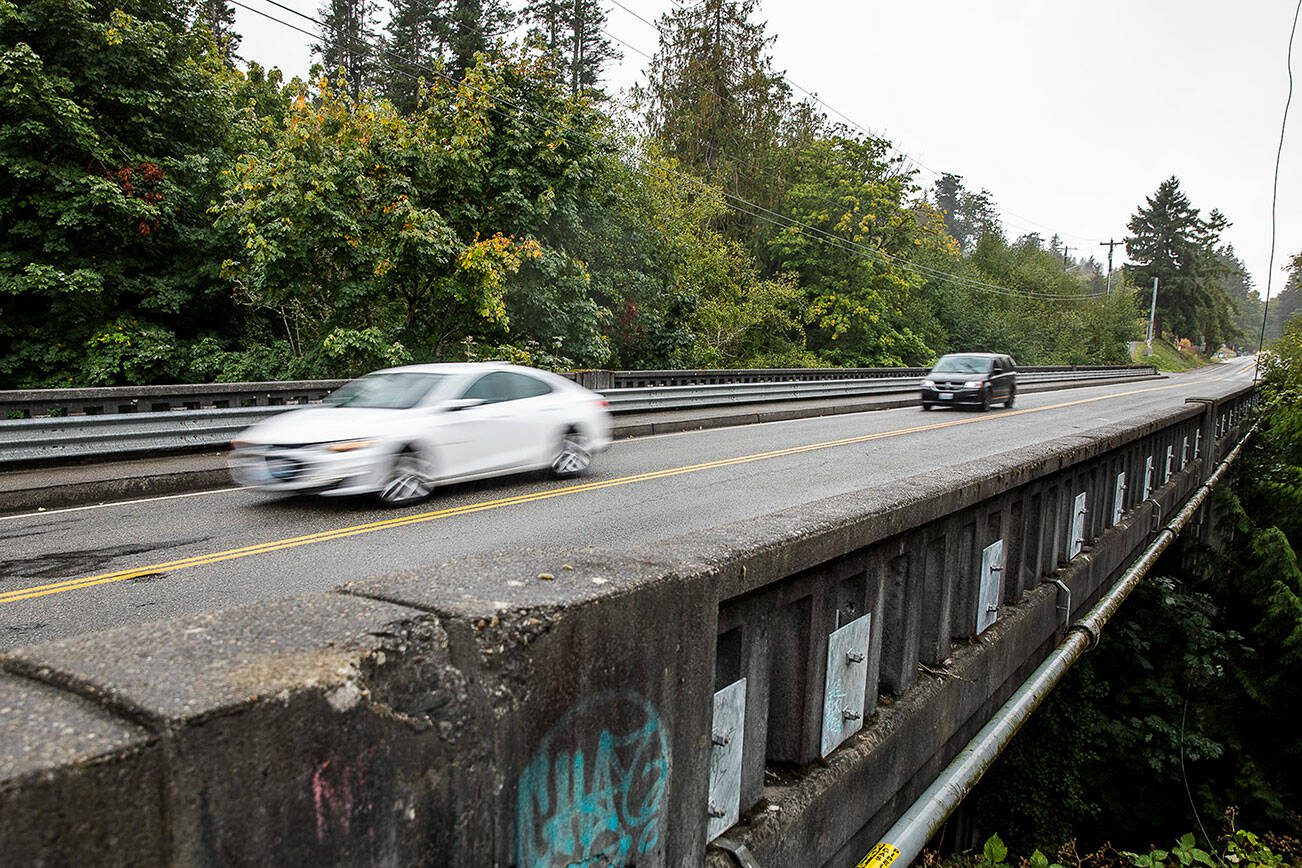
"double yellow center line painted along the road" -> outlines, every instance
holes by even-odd
[[[91,588],[98,584],[111,584],[113,582],[125,582],[128,579],[139,578],[143,575],[154,575],[158,573],[171,573],[176,570],[186,570],[195,566],[207,566],[210,563],[220,563],[221,561],[234,561],[242,557],[253,557],[255,554],[268,554],[271,552],[283,552],[285,549],[298,548],[299,545],[315,545],[316,543],[329,543],[332,540],[341,540],[349,536],[361,536],[362,534],[375,534],[378,531],[388,531],[397,527],[408,527],[410,524],[423,524],[424,522],[436,522],[444,518],[454,518],[457,515],[470,515],[473,513],[483,513],[493,509],[503,509],[505,506],[518,506],[522,504],[534,504],[543,500],[551,500],[553,497],[565,497],[569,495],[583,495],[587,492],[602,491],[604,488],[617,488],[620,485],[634,485],[638,483],[654,481],[656,479],[669,479],[671,476],[682,476],[686,474],[698,474],[706,470],[717,470],[721,467],[734,467],[737,465],[747,465],[756,461],[768,461],[772,458],[785,458],[786,455],[798,455],[806,452],[816,452],[820,449],[836,449],[838,446],[852,446],[862,442],[871,442],[874,440],[885,440],[888,437],[900,437],[910,433],[919,433],[923,431],[939,431],[941,428],[956,428],[958,426],[974,424],[978,422],[992,422],[997,419],[1006,419],[1009,416],[1023,415],[1029,413],[1046,413],[1049,410],[1061,410],[1064,407],[1074,407],[1082,403],[1094,403],[1096,401],[1109,401],[1113,398],[1124,398],[1131,394],[1142,394],[1146,392],[1161,392],[1164,389],[1174,389],[1184,384],[1170,384],[1148,387],[1143,389],[1133,389],[1130,392],[1120,392],[1116,394],[1095,396],[1091,398],[1081,398],[1077,401],[1066,401],[1062,403],[1053,403],[1044,407],[1031,407],[1023,410],[1009,410],[1008,413],[1000,413],[996,416],[967,416],[963,419],[953,419],[949,422],[937,422],[926,426],[914,426],[910,428],[897,428],[894,431],[883,431],[879,433],[862,435],[858,437],[842,437],[841,440],[825,440],[823,442],[812,442],[802,446],[789,446],[786,449],[773,449],[771,452],[758,452],[750,455],[737,455],[734,458],[720,458],[719,461],[704,461],[697,465],[686,465],[682,467],[669,467],[665,470],[652,470],[644,474],[633,474],[629,476],[616,476],[615,479],[603,479],[590,483],[579,483],[575,485],[565,485],[560,488],[549,488],[547,491],[529,492],[525,495],[514,495],[512,497],[500,497],[496,500],[479,501],[477,504],[465,504],[462,506],[448,506],[445,509],[436,509],[424,513],[415,513],[411,515],[400,515],[396,518],[388,518],[379,522],[367,522],[365,524],[353,524],[350,527],[340,527],[332,531],[320,531],[318,534],[305,534],[302,536],[289,536],[280,540],[271,540],[267,543],[258,543],[256,545],[245,545],[242,548],[227,549],[224,552],[212,552],[208,554],[195,554],[191,557],[178,558],[176,561],[165,561],[163,563],[151,563],[148,566],[133,567],[130,570],[117,570],[116,573],[100,573],[99,575],[87,575],[81,579],[65,579],[62,582],[51,582],[48,584],[36,584],[26,588],[16,588],[13,591],[5,591],[0,593],[0,604],[3,603],[18,603],[21,600],[30,600],[33,597],[43,597],[51,593],[64,593],[68,591],[79,591],[82,588]]]

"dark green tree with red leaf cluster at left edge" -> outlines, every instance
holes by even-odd
[[[206,211],[258,122],[191,13],[0,1],[4,381],[185,377],[186,346],[232,319]]]

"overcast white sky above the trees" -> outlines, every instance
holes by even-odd
[[[264,0],[243,1],[288,17]],[[280,1],[306,13],[318,7]],[[672,5],[620,1],[652,21]],[[605,7],[615,36],[654,53],[654,29]],[[988,189],[1010,237],[1057,232],[1073,255],[1103,262],[1099,242],[1124,238],[1137,206],[1174,174],[1195,207],[1233,221],[1225,237],[1263,292],[1294,8],[1295,0],[760,0],[779,70],[894,142],[919,164],[923,183],[948,170]],[[236,12],[241,55],[286,77],[307,72],[306,36]],[[624,55],[611,72],[616,87],[638,81],[646,64]],[[1294,66],[1272,294],[1282,288],[1279,268],[1302,250],[1302,59]]]

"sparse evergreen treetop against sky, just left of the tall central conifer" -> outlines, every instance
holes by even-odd
[[[570,96],[602,96],[603,66],[620,57],[605,27],[605,10],[596,0],[530,0],[523,17],[530,36],[552,57]]]

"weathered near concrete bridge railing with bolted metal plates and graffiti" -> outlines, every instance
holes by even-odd
[[[852,865],[1254,400],[654,548],[510,550],[18,648],[0,846],[14,864],[727,865],[708,848],[727,830],[763,865]]]

